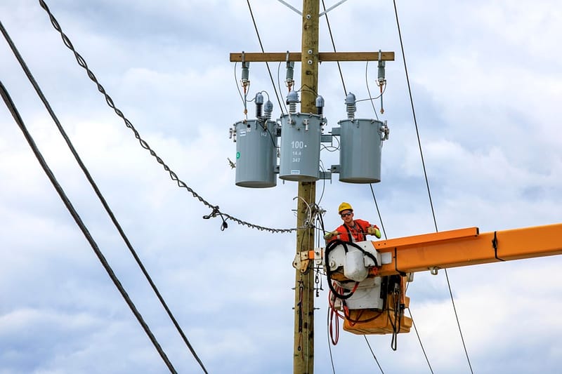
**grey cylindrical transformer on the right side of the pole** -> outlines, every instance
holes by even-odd
[[[339,180],[348,183],[381,181],[384,123],[375,119],[345,119],[340,129]]]

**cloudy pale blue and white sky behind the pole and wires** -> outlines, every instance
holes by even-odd
[[[326,0],[327,7],[336,4]],[[300,1],[287,1],[302,8]],[[244,119],[231,52],[260,45],[246,1],[51,0],[47,4],[100,84],[141,137],[223,213],[271,228],[296,226],[296,182],[235,186]],[[300,51],[301,16],[250,1],[266,51]],[[462,227],[481,232],[561,222],[562,5],[535,1],[396,1],[429,180],[426,187],[393,2],[348,0],[328,13],[337,51],[394,51],[386,64],[381,182],[317,182],[326,229],[348,201],[388,238]],[[211,213],[180,189],[107,106],[39,1],[4,0],[0,20],[209,373],[290,373],[296,234],[273,234]],[[333,51],[325,18],[320,51]],[[273,80],[283,67],[270,64]],[[300,72],[297,64],[296,72]],[[346,119],[345,93],[368,98],[376,64],[319,67],[328,128]],[[250,65],[249,95],[281,109],[266,66]],[[279,78],[277,78],[279,77]],[[199,364],[37,98],[8,44],[0,79],[58,182],[180,373]],[[295,74],[296,86],[300,76]],[[367,82],[367,83],[366,83]],[[368,86],[367,86],[368,84]],[[286,94],[287,88],[277,91]],[[283,98],[281,100],[284,100]],[[379,102],[375,101],[377,110]],[[250,118],[253,103],[248,105]],[[285,110],[285,109],[283,109]],[[368,101],[357,118],[373,118]],[[325,166],[338,152],[321,152]],[[168,370],[41,170],[8,109],[0,109],[0,373],[166,373]],[[553,373],[562,363],[562,258],[450,269],[475,373]],[[360,335],[329,348],[327,283],[315,299],[315,372],[378,373]],[[419,272],[407,295],[417,334],[367,337],[384,373],[470,373],[447,277]],[[423,349],[421,349],[423,345]],[[331,353],[330,353],[331,349]]]

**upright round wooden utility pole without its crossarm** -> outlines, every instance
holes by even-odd
[[[301,112],[314,113],[318,95],[318,34],[320,0],[303,0],[301,44]],[[316,182],[299,182],[296,227],[303,227],[307,204],[316,202]],[[296,232],[296,253],[314,249],[314,229]],[[314,272],[296,269],[293,373],[314,372]]]

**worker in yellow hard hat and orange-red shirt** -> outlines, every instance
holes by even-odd
[[[333,232],[327,232],[324,239],[332,241],[364,241],[366,235],[374,235],[380,239],[381,230],[377,225],[372,225],[364,220],[353,220],[353,208],[349,203],[341,203],[338,208],[339,215],[344,224]]]

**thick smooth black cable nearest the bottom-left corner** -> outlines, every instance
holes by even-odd
[[[22,131],[22,133],[25,137],[25,140],[27,140],[27,143],[30,145],[30,147],[32,149],[32,152],[35,155],[35,158],[37,158],[37,161],[39,161],[39,164],[41,165],[41,168],[43,168],[43,171],[47,175],[48,179],[51,181],[51,184],[53,185],[53,187],[55,187],[55,190],[58,193],[58,195],[60,196],[60,199],[65,204],[65,206],[66,206],[67,210],[69,211],[70,215],[72,215],[72,218],[74,218],[74,222],[76,222],[80,231],[82,232],[82,234],[84,234],[84,236],[86,237],[86,240],[90,243],[90,246],[92,247],[93,252],[96,253],[96,256],[98,257],[98,260],[100,260],[101,265],[103,266],[103,268],[105,269],[107,274],[110,276],[110,279],[115,284],[115,287],[117,287],[117,290],[119,290],[119,293],[121,293],[121,295],[124,298],[126,304],[131,309],[131,312],[133,312],[134,316],[136,317],[138,323],[140,323],[141,326],[143,327],[143,330],[145,330],[146,335],[148,335],[148,338],[152,342],[152,345],[154,345],[158,354],[162,357],[162,360],[164,361],[164,363],[166,363],[166,366],[168,367],[170,372],[171,373],[177,373],[176,369],[174,368],[174,366],[172,365],[172,363],[168,359],[168,356],[166,356],[166,353],[164,352],[164,349],[162,349],[162,347],[159,345],[159,342],[156,340],[154,334],[152,334],[152,331],[150,330],[150,328],[148,327],[148,324],[143,319],[143,316],[141,315],[140,312],[138,312],[138,309],[136,309],[136,306],[134,305],[131,298],[129,298],[129,295],[126,293],[126,290],[124,289],[122,283],[119,281],[119,279],[117,278],[117,275],[115,275],[115,272],[113,272],[113,269],[111,268],[111,266],[109,265],[109,263],[105,259],[105,256],[100,251],[100,248],[98,247],[98,244],[96,243],[96,241],[94,241],[94,239],[91,236],[88,228],[86,227],[86,225],[84,225],[84,222],[81,220],[78,212],[76,211],[76,209],[74,209],[74,206],[72,206],[72,203],[70,202],[67,195],[65,194],[65,191],[63,190],[63,187],[60,187],[60,185],[58,183],[58,180],[56,179],[55,175],[53,174],[53,171],[51,171],[51,168],[49,168],[48,164],[46,163],[43,155],[41,154],[41,151],[39,151],[39,148],[35,144],[35,141],[34,141],[32,135],[30,134],[29,131],[27,131],[27,127],[25,126],[25,123],[23,123],[23,120],[22,120],[20,114],[18,113],[18,109],[16,109],[12,99],[10,98],[10,95],[8,95],[8,91],[6,91],[6,88],[4,87],[4,84],[2,84],[1,81],[0,81],[0,95],[4,99],[4,102],[6,103],[6,107],[8,107],[8,110],[11,112],[14,121],[20,127],[20,130]]]

